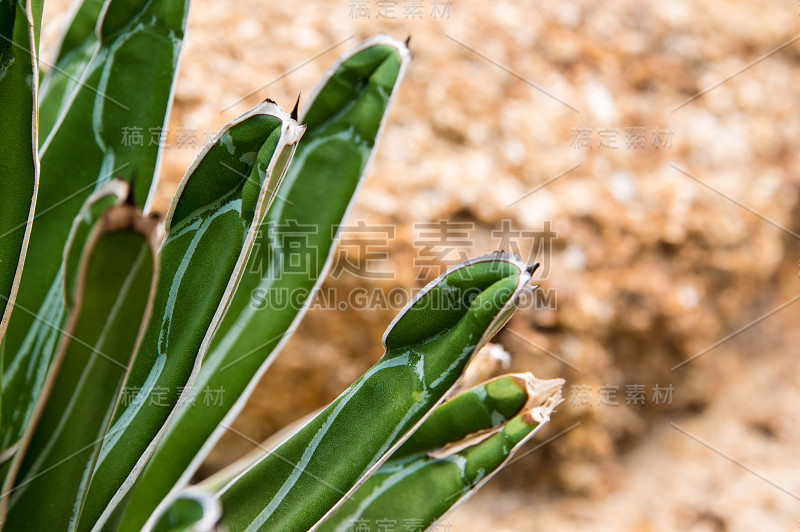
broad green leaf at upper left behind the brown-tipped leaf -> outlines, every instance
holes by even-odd
[[[123,141],[124,128],[147,134],[165,124],[187,6],[109,0],[97,34],[87,37],[86,61],[70,66],[68,54],[56,65],[78,81],[56,97],[54,125],[40,149],[37,214],[5,338],[0,448],[22,435],[66,319],[61,259],[72,220],[94,190],[118,176],[135,176],[135,202],[149,207],[158,146]],[[50,98],[44,91],[43,109]]]

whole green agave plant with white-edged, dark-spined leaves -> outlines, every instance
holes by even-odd
[[[162,220],[160,146],[122,136],[165,126],[187,9],[84,0],[40,82],[41,0],[2,4],[2,525],[425,529],[560,402],[560,379],[531,374],[457,388],[535,267],[493,253],[451,268],[333,403],[190,486],[324,279],[410,56],[375,36],[302,114],[265,101],[232,121]],[[209,406],[204,390],[224,393]]]

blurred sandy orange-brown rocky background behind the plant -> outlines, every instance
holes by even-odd
[[[45,60],[68,5],[46,2]],[[302,106],[379,31],[411,35],[414,56],[329,296],[234,427],[263,440],[381,356],[405,300],[357,308],[354,289],[412,291],[503,248],[542,263],[541,288],[486,374],[563,377],[565,402],[440,530],[797,529],[798,10],[193,1],[162,212],[204,142],[251,106],[290,109],[298,93]],[[251,449],[229,433],[201,473]]]

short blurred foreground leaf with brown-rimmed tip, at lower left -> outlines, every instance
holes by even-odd
[[[87,238],[70,246],[80,264],[71,294],[75,310],[3,488],[9,530],[78,527],[152,304],[158,228],[157,219],[135,207],[114,205],[95,218]]]

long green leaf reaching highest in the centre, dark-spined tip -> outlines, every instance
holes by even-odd
[[[405,45],[381,35],[347,53],[320,83],[280,189],[285,201],[260,228],[195,382],[196,392],[223,390],[217,396],[221,404],[198,400],[181,406],[133,489],[122,530],[139,530],[170,490],[189,481],[302,317],[325,277],[335,229],[366,175],[408,61]],[[291,304],[264,304],[285,301],[289,294]]]

